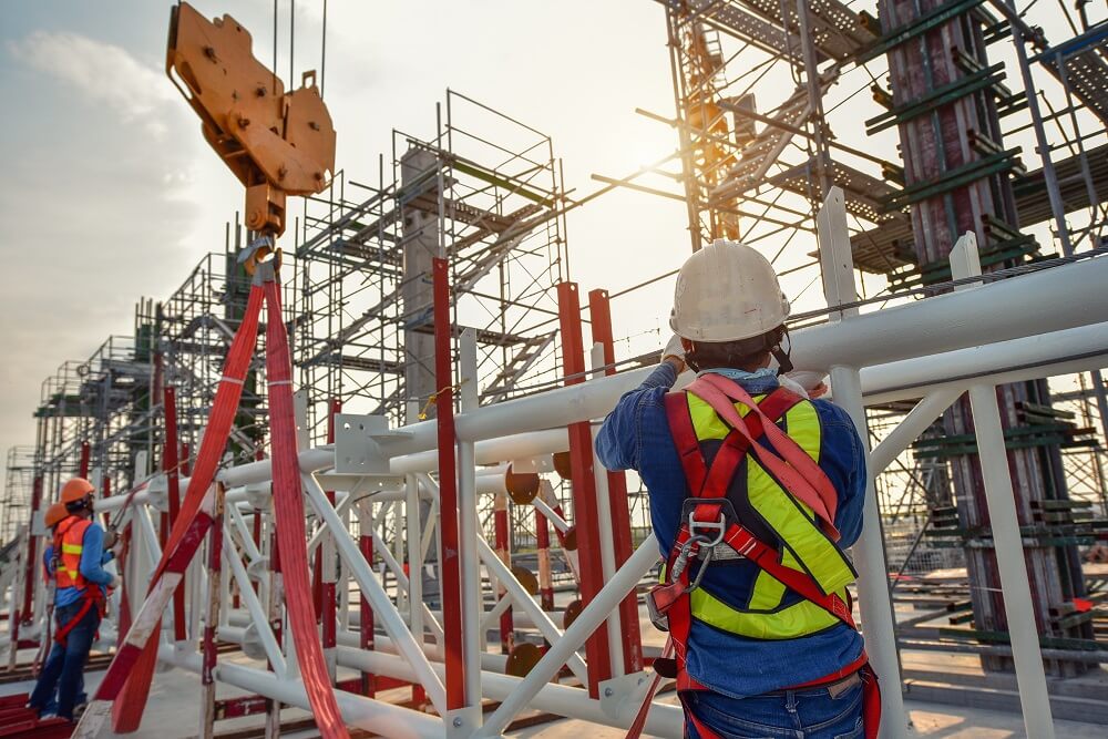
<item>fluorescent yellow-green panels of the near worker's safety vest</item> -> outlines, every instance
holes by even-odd
[[[722,440],[730,431],[711,407],[691,393],[685,393],[689,418],[700,442]],[[766,396],[755,397],[761,402]],[[736,403],[739,414],[749,409]],[[820,421],[815,407],[801,401],[784,414],[784,430],[797,444],[819,462]],[[760,440],[766,443],[765,438]],[[750,506],[776,534],[780,543],[781,562],[807,572],[824,594],[837,593],[847,598],[845,585],[856,577],[850,561],[820,528],[812,510],[789,494],[769,475],[753,454],[746,456],[745,492]],[[740,470],[742,468],[738,468]],[[767,542],[777,544],[776,542]],[[712,596],[701,586],[690,594],[693,617],[711,626],[756,639],[791,639],[821,632],[840,623],[819,605],[801,599],[782,606],[784,585],[766,571],[759,571],[746,608],[735,608]]]

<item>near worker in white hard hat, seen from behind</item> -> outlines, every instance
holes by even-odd
[[[847,412],[784,377],[789,309],[755,249],[694,254],[661,363],[596,440],[607,469],[649,490],[667,562],[648,606],[675,651],[655,668],[676,678],[694,738],[876,736],[876,678],[845,589],[865,458]],[[686,367],[696,380],[673,392]]]

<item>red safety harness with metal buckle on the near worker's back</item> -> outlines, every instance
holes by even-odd
[[[693,428],[684,392],[671,392],[666,396],[670,432],[691,495],[686,500],[683,510],[684,521],[667,562],[667,582],[650,591],[647,606],[655,626],[669,632],[675,654],[673,659],[664,657],[655,660],[655,670],[660,677],[676,678],[687,722],[696,727],[701,739],[717,739],[718,735],[705,726],[688,707],[688,691],[708,688],[696,681],[686,670],[686,648],[693,625],[689,594],[699,586],[700,578],[711,563],[714,547],[720,544],[730,546],[739,556],[753,562],[789,589],[817,604],[851,628],[856,626],[850,606],[842,598],[834,593],[824,594],[808,573],[783,565],[780,552],[758,540],[742,526],[727,500],[731,479],[739,471],[747,454],[752,453],[787,492],[802,500],[817,513],[829,535],[838,538],[838,532],[831,523],[835,511],[835,499],[827,496],[830,481],[822,470],[819,470],[814,460],[777,425],[777,422],[803,399],[784,388],[778,388],[763,398],[761,403],[756,403],[740,386],[718,374],[706,374],[694,382],[687,391],[707,401],[728,424],[730,431],[709,468],[705,463],[700,442]],[[737,400],[750,409],[745,419],[739,415],[730,400]],[[761,443],[760,440],[763,438],[770,442],[772,449]],[[813,474],[813,468],[819,472],[818,475]],[[830,490],[833,492],[833,487]],[[702,558],[702,563],[693,575],[689,564],[690,560],[697,557]],[[669,645],[667,650],[668,648]],[[783,689],[829,686],[855,673],[862,681],[865,737],[874,739],[881,720],[881,697],[876,675],[870,667],[864,650],[856,660],[830,675]],[[644,706],[645,708],[647,706]],[[643,710],[639,716],[642,720],[636,720],[633,730],[637,727],[642,731],[645,718],[646,710]]]

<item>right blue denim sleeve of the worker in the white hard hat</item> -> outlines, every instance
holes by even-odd
[[[865,453],[850,414],[827,400],[812,401],[820,414],[822,442],[820,468],[839,493],[835,527],[842,535],[839,544],[852,545],[862,533],[862,507],[865,504]]]

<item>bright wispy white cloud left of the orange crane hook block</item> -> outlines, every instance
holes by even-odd
[[[173,90],[125,49],[65,31],[35,31],[8,49],[28,66],[75,88],[89,103],[119,111],[124,122],[141,122],[154,137],[165,135],[157,114]]]

